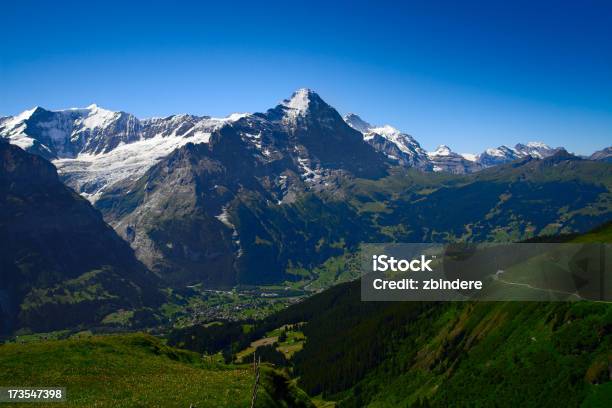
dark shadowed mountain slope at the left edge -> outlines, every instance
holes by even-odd
[[[53,165],[0,141],[0,331],[99,323],[156,304],[158,278]]]

